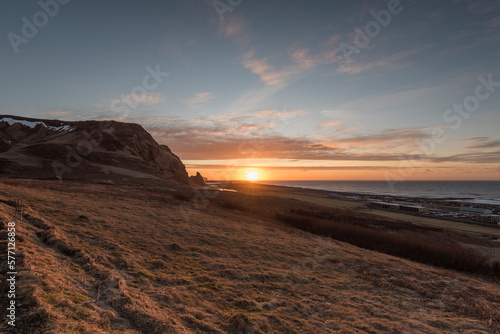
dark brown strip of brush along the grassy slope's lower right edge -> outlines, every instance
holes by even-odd
[[[500,277],[500,262],[490,261],[480,253],[425,238],[414,238],[404,233],[377,230],[349,222],[348,217],[335,219],[318,216],[306,210],[277,213],[276,219],[295,228],[348,242],[362,248],[375,250],[412,261],[467,273]],[[322,217],[322,218],[319,218]]]

